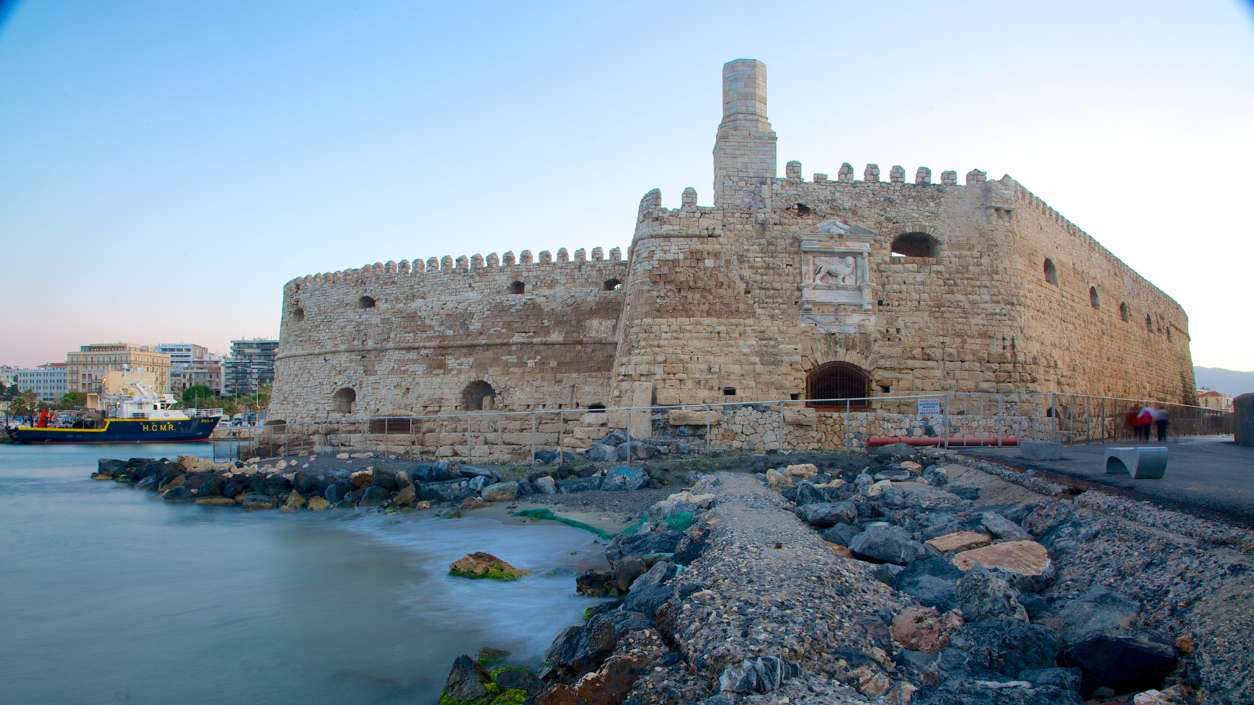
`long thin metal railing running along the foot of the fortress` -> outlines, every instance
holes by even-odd
[[[949,393],[840,400],[729,401],[616,409],[535,409],[415,416],[272,420],[234,454],[375,453],[480,463],[569,462],[592,444],[619,460],[722,449],[855,449],[912,444],[1002,445],[1023,439],[1083,443],[1132,437],[1125,415],[1166,409],[1172,435],[1230,434],[1230,411],[1082,394]],[[627,450],[617,450],[626,444]],[[602,454],[606,449],[599,449]]]

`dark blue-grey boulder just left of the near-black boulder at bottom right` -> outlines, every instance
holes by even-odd
[[[1056,666],[1062,651],[1062,637],[1053,630],[1007,618],[967,623],[949,642],[979,667],[1011,677]]]

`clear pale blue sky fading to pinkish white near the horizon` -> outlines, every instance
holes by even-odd
[[[725,61],[779,173],[1009,173],[1254,370],[1254,11],[1236,0],[0,0],[0,364],[278,335],[282,285],[619,246],[711,204]]]

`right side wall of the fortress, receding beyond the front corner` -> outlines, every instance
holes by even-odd
[[[1196,404],[1189,319],[1180,305],[1021,184],[1004,181],[1017,206],[1011,232],[1022,290],[1018,345],[1038,369],[1038,389]],[[1046,257],[1057,285],[1045,280]]]

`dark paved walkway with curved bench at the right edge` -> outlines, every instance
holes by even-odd
[[[1236,445],[1231,438],[1183,437],[1167,440],[1167,472],[1162,479],[1149,480],[1106,474],[1106,449],[1137,445],[1127,440],[1068,445],[1061,460],[1050,462],[1026,460],[1018,448],[956,450],[1119,488],[1169,509],[1254,527],[1254,448]]]

